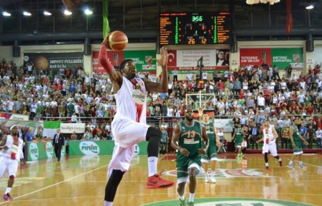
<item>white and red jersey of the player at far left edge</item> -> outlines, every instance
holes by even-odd
[[[7,151],[0,150],[0,156],[6,156],[6,157],[19,160],[20,156],[22,155],[21,152],[22,152],[24,141],[19,137],[17,138],[17,141],[18,141],[18,146],[14,144],[14,138],[11,135],[7,135],[7,141],[4,146],[7,146],[9,150]]]

